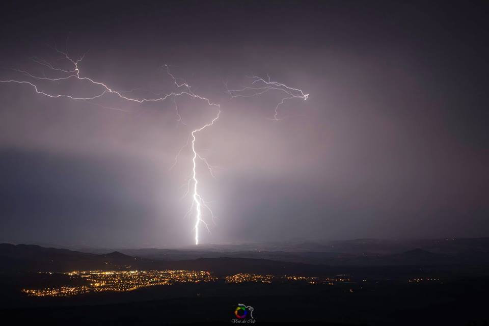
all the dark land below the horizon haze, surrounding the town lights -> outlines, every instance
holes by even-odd
[[[0,274],[0,314],[4,320],[13,318],[16,324],[232,324],[239,303],[254,308],[254,323],[467,326],[489,323],[489,266],[483,251],[479,252],[484,255],[479,264],[475,258],[447,264],[444,257],[437,262],[433,257],[439,256],[411,250],[389,256],[384,261],[390,260],[390,264],[332,266],[225,257],[158,261],[120,253],[95,255],[36,246],[0,246],[4,250],[0,256],[5,258]],[[135,265],[147,269],[190,268],[209,270],[217,278],[207,283],[176,283],[64,297],[35,297],[21,291],[70,285],[66,275],[56,273],[63,270],[45,273],[48,269],[43,265],[46,264],[76,267],[87,264],[89,268],[103,264],[108,266],[106,270],[115,270],[127,269],[130,261],[135,262],[130,269]],[[377,261],[379,258],[375,258]],[[35,266],[34,270],[30,266]],[[332,284],[226,282],[225,276],[236,270],[347,281]]]

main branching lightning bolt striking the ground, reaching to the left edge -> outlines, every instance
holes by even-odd
[[[40,58],[36,58],[36,57],[31,58],[31,60],[36,64],[39,64],[39,65],[46,67],[51,72],[58,73],[58,74],[66,74],[66,75],[61,76],[61,77],[51,78],[51,77],[46,77],[45,75],[43,75],[43,76],[34,75],[34,74],[32,74],[28,71],[25,71],[25,70],[12,69],[12,70],[14,70],[14,71],[26,76],[26,77],[29,77],[33,80],[30,82],[29,80],[6,79],[6,80],[0,80],[0,83],[15,83],[15,84],[21,84],[21,85],[29,85],[32,88],[34,88],[34,91],[37,94],[40,94],[43,96],[47,96],[47,97],[51,97],[51,98],[68,98],[71,100],[82,100],[82,101],[87,101],[91,105],[96,105],[96,106],[101,107],[101,108],[105,108],[105,109],[109,109],[109,110],[124,111],[124,112],[129,112],[129,111],[126,111],[126,110],[123,110],[123,109],[117,108],[117,107],[104,106],[104,105],[101,105],[101,104],[98,104],[98,103],[95,103],[92,101],[96,100],[98,98],[101,98],[102,96],[107,95],[107,94],[116,95],[117,97],[119,97],[123,100],[131,101],[131,102],[137,102],[137,103],[159,102],[159,101],[165,101],[166,99],[172,98],[174,101],[174,104],[175,104],[177,121],[182,123],[183,125],[186,125],[186,124],[183,123],[182,117],[179,114],[178,105],[176,102],[176,97],[186,95],[186,96],[189,96],[189,97],[194,98],[194,99],[203,100],[207,103],[207,105],[215,107],[217,109],[216,115],[214,116],[214,118],[209,123],[203,125],[200,128],[194,129],[190,133],[189,138],[187,139],[187,143],[180,149],[180,151],[178,151],[178,153],[175,157],[175,163],[173,165],[173,166],[176,165],[178,156],[182,152],[183,148],[188,146],[188,141],[190,138],[192,138],[192,147],[191,148],[192,148],[192,152],[193,152],[193,157],[192,157],[193,168],[192,168],[192,178],[189,179],[189,181],[187,183],[188,184],[187,193],[189,191],[191,181],[193,182],[194,186],[193,186],[192,205],[191,205],[191,207],[190,207],[190,209],[186,215],[188,215],[189,213],[192,213],[193,209],[195,209],[196,215],[195,215],[195,224],[194,224],[193,230],[195,231],[195,244],[199,244],[199,226],[201,224],[203,224],[206,227],[206,229],[209,230],[207,223],[202,218],[202,216],[203,216],[202,208],[206,208],[209,211],[210,215],[212,216],[212,221],[214,221],[215,216],[214,216],[212,210],[207,205],[207,203],[203,200],[200,193],[198,192],[199,181],[198,181],[198,176],[197,176],[197,158],[199,158],[201,161],[204,162],[204,164],[206,165],[207,169],[209,170],[209,172],[212,176],[214,176],[214,174],[213,174],[213,170],[212,170],[213,167],[211,165],[209,165],[207,160],[204,157],[202,157],[196,150],[196,146],[195,146],[195,142],[197,140],[196,135],[198,132],[204,130],[205,128],[207,128],[211,125],[213,125],[214,122],[219,119],[219,116],[221,114],[220,104],[212,103],[208,98],[200,96],[200,95],[196,95],[191,90],[191,87],[185,81],[179,83],[178,79],[175,78],[175,76],[170,72],[170,68],[168,65],[164,65],[164,67],[166,68],[167,74],[172,78],[173,84],[176,86],[176,88],[182,89],[182,91],[172,92],[172,93],[164,94],[164,95],[161,95],[161,93],[155,94],[157,96],[154,98],[129,97],[129,96],[124,95],[123,93],[131,93],[134,90],[127,91],[127,92],[116,91],[116,90],[112,89],[111,87],[109,87],[108,85],[106,85],[105,83],[95,81],[94,79],[89,78],[89,77],[80,76],[79,64],[84,59],[85,55],[82,57],[79,57],[77,60],[73,60],[71,57],[68,56],[67,52],[60,51],[57,48],[55,48],[55,50],[60,55],[63,56],[63,59],[65,59],[66,61],[71,63],[71,65],[73,67],[72,70],[66,70],[66,69],[55,67],[51,63],[49,63],[48,61],[40,59]],[[82,82],[91,83],[92,85],[100,87],[100,92],[96,93],[93,96],[88,96],[88,97],[77,97],[77,96],[70,95],[70,94],[50,94],[50,93],[47,93],[47,92],[40,90],[39,86],[34,82],[34,80],[38,80],[38,81],[44,80],[44,81],[48,81],[48,82],[61,82],[63,80],[69,80],[69,79],[78,79]],[[172,168],[173,168],[173,166],[172,166]],[[209,232],[210,232],[210,230],[209,230]]]

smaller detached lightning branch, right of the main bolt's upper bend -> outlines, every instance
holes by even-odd
[[[289,87],[285,84],[271,81],[270,76],[268,74],[267,74],[267,80],[255,75],[247,76],[247,77],[252,79],[251,86],[243,87],[237,90],[231,90],[228,88],[227,83],[225,83],[227,93],[231,96],[231,98],[255,97],[271,90],[277,90],[285,93],[285,96],[282,97],[282,100],[274,108],[273,120],[275,121],[282,120],[278,118],[279,107],[280,105],[284,104],[286,100],[292,98],[301,98],[303,100],[307,100],[307,98],[309,97],[309,94],[305,94],[302,90],[298,88]]]

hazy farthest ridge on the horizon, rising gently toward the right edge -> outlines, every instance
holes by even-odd
[[[287,248],[287,249],[284,249]],[[213,245],[192,249],[122,249],[130,256],[152,260],[255,258],[331,266],[489,264],[489,238],[382,240],[355,239],[327,243],[300,242]]]

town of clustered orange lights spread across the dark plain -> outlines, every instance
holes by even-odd
[[[47,272],[53,275],[57,273]],[[47,287],[42,289],[22,289],[22,292],[30,296],[72,296],[89,292],[104,291],[132,291],[135,289],[155,286],[172,285],[176,283],[204,283],[215,282],[219,278],[212,276],[209,271],[190,271],[190,270],[130,270],[130,271],[70,271],[60,273],[69,276],[74,281],[84,283],[79,286],[60,286]],[[350,282],[345,276],[338,278],[329,277],[304,277],[304,276],[274,276],[240,273],[233,276],[224,277],[225,283],[284,283],[284,282],[304,282],[308,284],[327,284],[334,285],[336,282]]]

